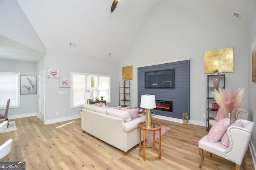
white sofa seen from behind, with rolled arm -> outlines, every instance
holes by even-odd
[[[128,111],[87,104],[81,111],[82,131],[124,151],[124,155],[139,143],[138,123],[145,119],[131,120]]]

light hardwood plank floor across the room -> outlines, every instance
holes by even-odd
[[[0,161],[26,161],[26,170],[198,170],[198,141],[207,134],[206,127],[153,117],[152,121],[171,129],[162,135],[161,160],[143,161],[136,150],[138,145],[124,156],[121,150],[82,133],[80,119],[50,125],[44,125],[36,116],[9,121],[16,122],[17,131],[0,134],[0,145],[8,139],[14,140],[10,154]],[[254,170],[249,149],[246,168]],[[214,154],[211,157],[204,151],[202,170],[234,169],[235,163]]]

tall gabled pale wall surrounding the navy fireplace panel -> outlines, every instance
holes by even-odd
[[[173,1],[158,2],[120,63],[120,70],[122,66],[134,66],[131,104],[136,106],[138,102],[136,66],[191,57],[190,123],[206,125],[204,52],[227,47],[234,47],[234,72],[224,73],[226,87],[248,88],[248,33]],[[242,107],[248,109],[248,91]]]

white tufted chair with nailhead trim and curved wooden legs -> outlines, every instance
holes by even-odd
[[[220,145],[220,141],[214,143],[208,142],[208,135],[200,139],[200,141],[198,142],[199,154],[201,157],[199,168],[202,167],[202,164],[204,162],[203,150],[206,150],[210,152],[210,156],[212,156],[212,154],[216,154],[222,158],[235,162],[236,170],[239,170],[241,163],[243,163],[243,167],[244,169],[246,169],[246,160],[244,155],[246,153],[246,150],[248,149],[248,144],[252,136],[252,131],[255,123],[244,119],[239,120],[242,121],[243,127],[230,126],[227,129],[229,139],[228,148],[223,148]]]

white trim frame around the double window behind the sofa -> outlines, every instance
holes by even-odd
[[[84,104],[82,105],[78,105],[78,106],[73,106],[73,76],[72,74],[81,74],[81,75],[94,75],[94,76],[105,76],[105,77],[109,77],[109,102],[106,103],[111,103],[111,76],[110,75],[103,75],[103,74],[92,74],[92,73],[82,73],[82,72],[70,72],[70,108],[78,108],[78,107],[83,107]]]

